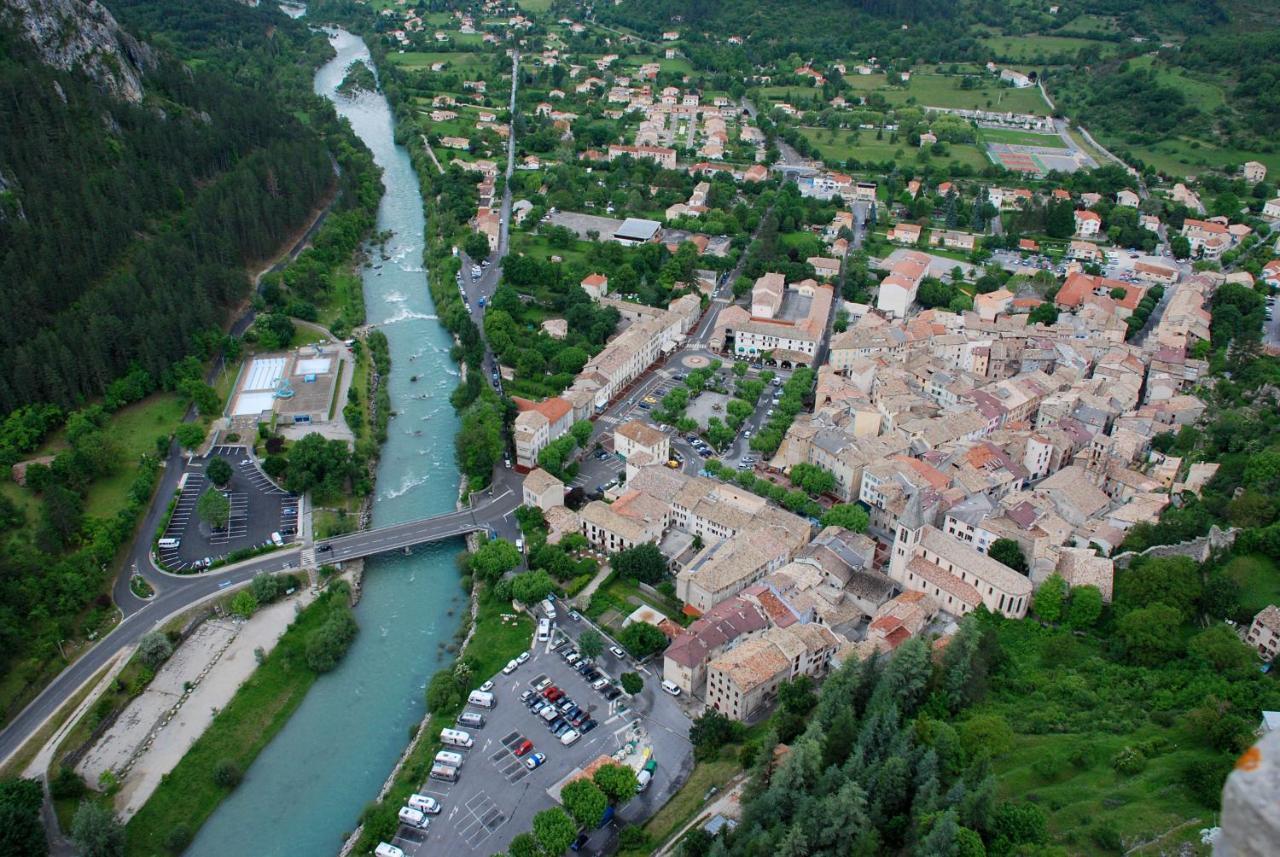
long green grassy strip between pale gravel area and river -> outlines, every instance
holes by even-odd
[[[127,854],[165,853],[165,838],[174,828],[195,833],[209,819],[230,793],[214,782],[214,769],[230,761],[247,771],[302,704],[317,678],[306,663],[307,637],[335,610],[347,609],[346,597],[344,591],[330,590],[298,614],[262,665],[129,820]]]

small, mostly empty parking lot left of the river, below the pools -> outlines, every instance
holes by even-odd
[[[196,504],[211,487],[205,469],[215,458],[232,466],[232,478],[223,491],[230,504],[225,527],[212,530],[200,521]],[[243,446],[214,446],[205,458],[193,459],[184,473],[169,526],[163,539],[177,539],[178,546],[160,549],[160,564],[172,570],[193,570],[244,547],[265,545],[271,533],[283,541],[297,537],[298,498],[275,485]]]

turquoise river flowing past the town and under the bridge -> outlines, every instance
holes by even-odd
[[[374,526],[384,526],[454,508],[458,421],[449,393],[458,371],[428,293],[422,197],[408,153],[394,143],[390,107],[381,93],[337,95],[347,67],[369,61],[369,50],[346,31],[333,31],[330,42],[338,55],[316,73],[315,91],[334,102],[381,166],[378,229],[393,234],[385,258],[375,251],[364,271],[369,322],[385,331],[392,353],[396,417],[374,500]],[[451,541],[367,563],[351,651],[315,683],[204,825],[189,857],[337,853],[421,720],[428,678],[448,660],[443,645],[467,606],[454,564],[461,547]]]

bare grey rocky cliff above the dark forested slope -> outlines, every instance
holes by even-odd
[[[96,0],[0,0],[0,22],[49,65],[78,68],[116,98],[142,101],[142,73],[155,65],[155,51]]]

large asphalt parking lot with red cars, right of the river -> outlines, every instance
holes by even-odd
[[[566,605],[561,608],[567,610]],[[660,673],[650,666],[637,668],[630,659],[618,659],[605,651],[594,666],[603,678],[611,679],[611,686],[628,670],[639,672],[645,682],[635,697],[622,695],[607,700],[563,657],[572,640],[590,627],[589,623],[564,613],[559,619],[563,631],[553,632],[547,642],[535,642],[526,664],[511,675],[494,677],[495,707],[467,709],[483,714],[485,725],[458,727],[471,734],[475,746],[449,748],[465,756],[456,783],[430,779],[420,789],[421,794],[439,801],[442,811],[430,817],[426,831],[401,826],[392,844],[406,854],[500,853],[513,837],[532,828],[534,815],[557,805],[553,794],[567,778],[628,744],[636,751],[650,747],[657,770],[649,788],[618,811],[622,821],[640,821],[655,812],[692,770],[690,721],[676,700],[659,688]],[[605,640],[608,649],[613,643]],[[544,691],[549,687],[563,691],[566,696],[557,701],[558,705],[572,700],[596,725],[571,746],[562,744],[548,730],[547,721],[521,701],[524,692],[534,696],[539,686],[545,686]],[[541,695],[538,698],[543,698]],[[532,747],[517,756],[526,739]],[[527,760],[535,753],[545,756],[545,761],[530,767]],[[612,825],[596,831],[580,853],[602,853],[613,834]]]

